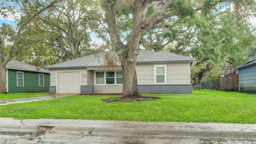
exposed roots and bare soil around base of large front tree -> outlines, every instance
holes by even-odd
[[[117,98],[108,98],[108,99],[102,99],[103,102],[114,102],[114,101],[122,101],[122,102],[131,102],[131,101],[146,101],[146,100],[158,100],[161,98],[158,97],[117,97]]]

